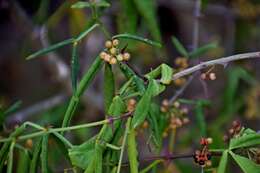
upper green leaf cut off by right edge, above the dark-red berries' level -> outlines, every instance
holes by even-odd
[[[260,145],[260,134],[245,134],[241,137],[232,138],[229,144],[229,149],[251,147]]]

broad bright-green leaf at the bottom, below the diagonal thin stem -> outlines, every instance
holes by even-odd
[[[85,169],[93,162],[95,154],[96,136],[85,143],[73,146],[69,149],[69,157],[72,165]]]

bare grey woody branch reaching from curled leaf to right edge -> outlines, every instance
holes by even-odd
[[[211,61],[202,62],[198,65],[193,66],[193,67],[187,68],[186,70],[175,73],[172,77],[172,80],[176,80],[176,79],[181,78],[183,76],[187,76],[187,75],[192,74],[196,71],[205,69],[205,68],[213,66],[213,65],[226,66],[229,62],[238,61],[238,60],[241,60],[241,59],[250,59],[250,58],[260,58],[260,52],[237,54],[237,55],[232,55],[232,56],[219,58],[219,59],[215,59],[215,60],[211,60]]]

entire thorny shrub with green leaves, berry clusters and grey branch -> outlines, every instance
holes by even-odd
[[[201,167],[202,171],[210,171],[213,168],[217,173],[225,173],[230,162],[235,163],[245,173],[260,173],[260,134],[253,129],[244,127],[235,120],[231,128],[224,136],[226,147],[212,147],[214,139],[207,136],[207,123],[204,117],[204,108],[214,104],[209,100],[187,100],[180,99],[177,93],[170,99],[160,97],[170,85],[181,86],[180,92],[192,79],[215,80],[217,75],[213,72],[215,66],[225,66],[232,61],[259,58],[260,52],[243,53],[229,57],[218,58],[189,66],[189,58],[199,57],[201,54],[215,46],[211,43],[189,52],[175,37],[173,44],[183,56],[177,58],[175,64],[178,68],[161,63],[157,68],[148,71],[146,74],[139,74],[132,68],[129,60],[135,57],[131,55],[126,43],[142,42],[154,49],[162,47],[161,43],[152,41],[141,36],[122,33],[113,35],[109,33],[106,26],[100,20],[99,8],[108,7],[109,4],[103,1],[78,2],[73,8],[92,9],[93,19],[90,26],[77,37],[53,44],[50,47],[39,50],[28,56],[27,60],[40,57],[56,49],[67,45],[72,47],[71,55],[71,84],[73,93],[63,122],[60,127],[40,126],[33,122],[24,122],[17,126],[7,137],[0,139],[0,172],[5,169],[8,173],[13,172],[17,160],[14,159],[15,150],[24,153],[24,165],[26,172],[35,173],[51,172],[48,142],[50,138],[59,143],[64,151],[70,168],[64,168],[66,172],[84,173],[147,173],[160,172],[160,167],[169,165],[180,159],[180,162],[188,159],[189,162]],[[89,66],[81,79],[79,73],[78,47],[81,41],[91,31],[101,29],[107,41],[103,50]],[[116,86],[115,69],[123,76],[124,82]],[[81,96],[91,85],[93,79],[99,72],[104,73],[104,110],[103,120],[71,125],[71,120],[76,116],[75,112],[80,104]],[[162,100],[158,102],[158,100]],[[190,111],[184,105],[193,107],[195,118],[188,116]],[[1,110],[2,115],[7,115],[12,109]],[[187,152],[180,152],[175,148],[176,133],[187,128],[191,121],[195,121],[201,138],[193,139]],[[74,145],[67,137],[67,133],[74,130],[100,126],[99,131],[90,139],[80,145]],[[27,129],[31,129],[28,133]],[[146,131],[148,135],[147,148],[150,156],[142,156],[139,149],[138,135]],[[165,152],[165,141],[167,149]],[[24,142],[27,147],[23,147]],[[29,146],[29,147],[28,147]],[[183,151],[183,150],[181,150]],[[192,160],[190,160],[191,158]],[[212,159],[217,164],[212,165]]]

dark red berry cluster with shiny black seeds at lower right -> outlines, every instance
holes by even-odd
[[[196,150],[194,153],[194,161],[202,167],[211,166],[211,153],[209,152],[208,145],[212,143],[212,138],[201,138],[201,150]]]

